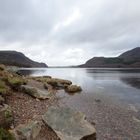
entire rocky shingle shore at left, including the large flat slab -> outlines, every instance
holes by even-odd
[[[50,107],[59,89],[80,86],[64,79],[24,77],[0,66],[0,140],[95,140],[96,131],[81,112]]]

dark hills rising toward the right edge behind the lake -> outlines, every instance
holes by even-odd
[[[140,47],[126,51],[118,57],[93,57],[79,67],[140,67]]]

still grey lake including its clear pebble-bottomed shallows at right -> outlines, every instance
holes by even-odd
[[[84,112],[99,140],[140,139],[140,69],[22,68],[20,72],[80,85],[83,91],[74,95],[60,90],[59,105]]]

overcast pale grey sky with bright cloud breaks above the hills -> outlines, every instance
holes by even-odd
[[[140,46],[140,0],[0,0],[0,50],[50,66]]]

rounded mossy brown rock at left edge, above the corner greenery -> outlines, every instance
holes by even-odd
[[[11,107],[4,104],[4,106],[0,109],[0,127],[10,128],[13,122],[14,117]]]

